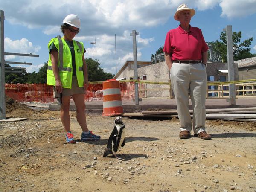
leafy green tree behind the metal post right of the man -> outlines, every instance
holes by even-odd
[[[241,38],[242,38],[241,31],[233,32],[232,39],[233,39],[234,61],[244,59],[244,58],[250,58],[256,55],[256,54],[252,54],[250,52],[251,49],[249,48],[253,41],[253,37],[246,39],[243,42],[241,42]],[[213,62],[227,62],[226,32],[221,32],[220,40],[221,41],[216,40],[212,42],[207,42],[209,47],[212,48]]]

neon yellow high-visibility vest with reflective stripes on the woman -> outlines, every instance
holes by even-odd
[[[54,43],[55,47],[58,49],[58,69],[61,78],[62,87],[71,89],[72,85],[72,55],[70,48],[68,47],[66,41],[58,36],[57,38],[52,38],[48,43],[48,49],[50,45]],[[79,87],[84,87],[84,73],[83,73],[83,60],[82,56],[84,54],[84,44],[79,41],[73,40],[75,60],[76,60],[76,78]],[[47,68],[47,84],[55,86],[55,76],[52,70],[52,60],[51,55],[49,55],[48,68]]]

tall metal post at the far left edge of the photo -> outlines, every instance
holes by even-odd
[[[6,119],[4,67],[4,12],[0,10],[0,119]]]

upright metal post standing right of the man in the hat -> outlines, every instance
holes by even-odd
[[[234,58],[233,58],[233,39],[232,39],[232,26],[226,27],[227,38],[227,64],[228,64],[228,80],[234,81]],[[234,83],[229,84],[229,104],[236,105],[236,86]]]

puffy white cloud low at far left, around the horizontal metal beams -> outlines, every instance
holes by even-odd
[[[34,46],[32,42],[30,42],[26,38],[21,38],[20,40],[12,40],[8,37],[4,39],[4,46],[5,46],[5,52],[15,52],[15,53],[25,53],[25,54],[35,54],[38,52],[41,47],[40,46]],[[15,59],[16,56],[12,55],[6,55],[5,59]]]

